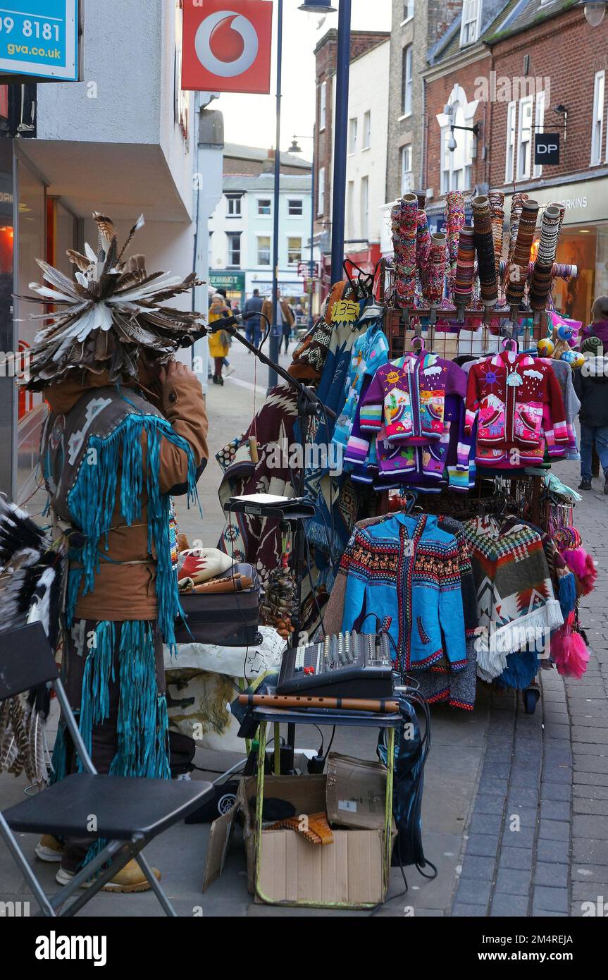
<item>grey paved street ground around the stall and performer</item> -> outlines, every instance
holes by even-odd
[[[289,363],[282,355],[281,363]],[[210,385],[210,463],[199,483],[204,516],[178,507],[180,529],[189,539],[215,545],[223,526],[217,502],[220,469],[214,453],[241,433],[263,404],[267,370],[233,344],[234,373],[223,387]],[[578,465],[555,471],[571,486]],[[475,711],[433,709],[433,745],[425,769],[423,844],[439,869],[435,880],[406,869],[408,893],[393,869],[389,901],[378,914],[389,916],[580,916],[608,914],[608,497],[603,480],[593,481],[576,509],[576,524],[598,563],[594,592],[582,601],[581,619],[591,659],[581,681],[564,681],[556,671],[542,673],[537,711],[527,714],[521,696],[495,694],[481,685]],[[53,719],[50,720],[52,738]],[[310,732],[315,735],[311,736]],[[329,730],[324,731],[325,745]],[[318,749],[315,729],[299,729],[298,748]],[[375,759],[375,732],[338,729],[333,749]],[[231,753],[197,752],[203,771],[193,778],[215,778],[239,759]],[[23,778],[0,776],[0,808],[23,799]],[[163,872],[167,894],[179,915],[282,916],[351,915],[328,909],[256,905],[247,890],[245,856],[239,833],[221,877],[202,893],[210,828],[208,824],[171,828],[146,854]],[[35,839],[22,835],[25,854],[52,894],[55,865],[33,857]],[[602,898],[605,896],[606,898]],[[23,878],[0,844],[0,902],[26,902]],[[595,909],[592,911],[591,909]],[[601,909],[601,911],[598,911]],[[35,903],[31,902],[31,911]],[[157,916],[151,894],[97,895],[85,916]]]

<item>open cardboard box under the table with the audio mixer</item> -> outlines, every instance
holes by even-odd
[[[256,884],[255,809],[249,801],[256,796],[257,781],[244,779],[234,809],[211,825],[204,891],[221,873],[238,818],[243,825],[249,890],[256,902],[354,908],[384,901],[386,771],[377,762],[340,756],[330,760],[327,777],[266,776],[264,799],[285,800],[296,813],[327,810],[332,827],[340,823],[347,829],[333,829],[333,843],[324,846],[310,844],[294,830],[262,829]],[[355,802],[356,809],[340,808],[344,801]],[[359,826],[345,824],[345,818],[358,821]]]

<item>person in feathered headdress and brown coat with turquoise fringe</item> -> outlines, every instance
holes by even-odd
[[[27,386],[50,406],[40,463],[69,542],[65,684],[99,772],[168,778],[162,641],[174,645],[181,612],[171,495],[196,498],[208,422],[196,375],[173,360],[200,315],[165,303],[196,279],[123,258],[143,218],[118,251],[113,222],[93,217],[102,247],[69,251],[75,281],[39,261],[44,284],[30,284],[53,307],[39,318]],[[80,767],[62,728],[53,764],[55,779]],[[66,883],[97,850],[89,844],[43,838],[36,853],[61,860]],[[150,886],[131,861],[106,887]]]

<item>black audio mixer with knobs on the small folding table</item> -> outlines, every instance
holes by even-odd
[[[391,648],[386,634],[338,633],[283,654],[277,694],[390,698]]]

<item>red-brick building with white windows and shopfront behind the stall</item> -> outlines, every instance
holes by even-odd
[[[554,295],[559,309],[586,320],[593,296],[608,293],[608,19],[589,26],[575,0],[509,0],[491,13],[484,0],[466,7],[478,14],[476,39],[463,38],[458,15],[424,72],[429,211],[441,226],[450,189],[502,190],[507,216],[514,190],[541,208],[562,202],[557,259],[580,274],[558,281]],[[450,151],[450,122],[479,123],[479,135],[455,129]],[[558,164],[535,164],[536,132],[559,134]]]

